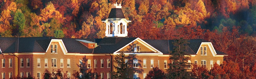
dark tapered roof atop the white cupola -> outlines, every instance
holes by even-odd
[[[125,18],[122,8],[112,8],[108,18]]]

